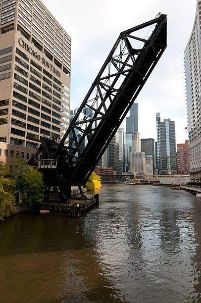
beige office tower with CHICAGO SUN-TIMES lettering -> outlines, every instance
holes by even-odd
[[[40,0],[0,5],[0,159],[29,159],[69,125],[71,38]]]

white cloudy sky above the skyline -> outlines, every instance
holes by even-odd
[[[155,113],[175,120],[176,141],[187,139],[184,49],[196,0],[43,0],[72,38],[71,108],[79,107],[120,32],[168,15],[168,47],[138,96],[141,138],[155,138]],[[56,3],[56,6],[55,6]],[[125,123],[123,125],[125,127]]]

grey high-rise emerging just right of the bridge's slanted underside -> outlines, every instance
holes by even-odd
[[[112,167],[116,175],[122,174],[122,146],[119,137],[119,133],[116,132],[107,147],[107,166]]]

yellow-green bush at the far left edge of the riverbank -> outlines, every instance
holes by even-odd
[[[9,168],[0,161],[0,221],[15,213],[16,186],[9,178]]]

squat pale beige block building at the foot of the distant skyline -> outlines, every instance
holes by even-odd
[[[146,156],[145,152],[131,152],[130,154],[130,171],[136,175],[146,174]]]

